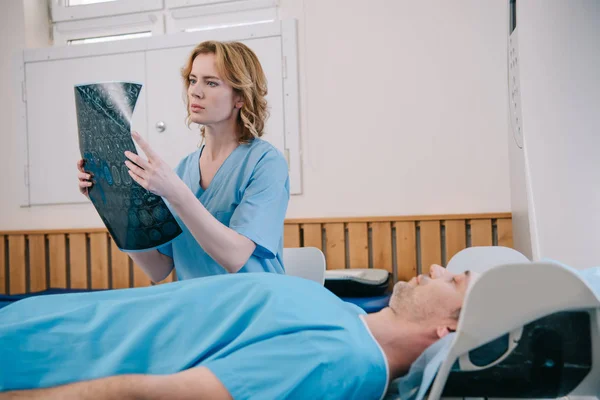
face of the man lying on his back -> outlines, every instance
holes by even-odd
[[[456,329],[453,316],[462,307],[472,275],[469,271],[454,275],[443,267],[432,266],[429,276],[396,283],[390,307],[413,321],[445,325],[453,322],[450,328]]]

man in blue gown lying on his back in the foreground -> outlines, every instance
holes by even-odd
[[[0,310],[0,399],[379,399],[470,279],[434,266],[374,314],[267,273],[27,298]]]

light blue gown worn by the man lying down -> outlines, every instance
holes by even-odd
[[[206,366],[236,400],[380,399],[387,362],[362,314],[270,273],[32,297],[0,310],[0,391]]]

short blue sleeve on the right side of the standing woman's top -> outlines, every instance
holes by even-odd
[[[254,255],[274,258],[283,240],[283,222],[290,199],[288,166],[273,150],[256,164],[229,227],[256,244]]]

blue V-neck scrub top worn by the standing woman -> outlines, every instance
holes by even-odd
[[[240,272],[284,273],[283,221],[290,198],[288,165],[269,142],[240,144],[223,162],[206,190],[200,187],[200,154],[185,157],[175,169],[196,198],[222,224],[256,244]],[[179,280],[226,274],[198,244],[167,202],[183,233],[158,249],[173,258]]]

